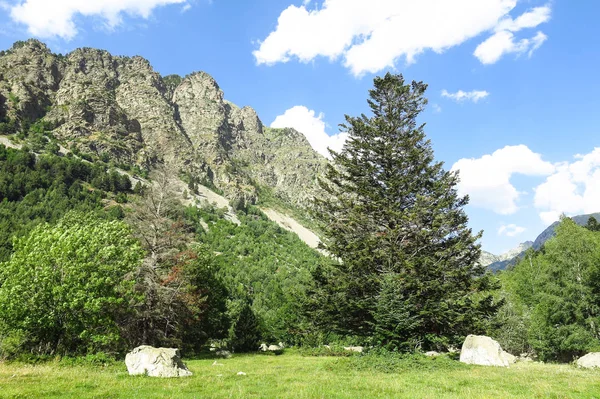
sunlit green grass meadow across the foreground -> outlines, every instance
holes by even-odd
[[[190,360],[194,375],[181,379],[130,377],[120,363],[0,364],[0,398],[600,398],[600,371],[570,365],[505,369],[427,359],[385,372],[371,360],[297,353],[234,356],[222,365]]]

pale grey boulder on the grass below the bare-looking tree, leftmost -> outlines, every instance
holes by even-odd
[[[188,377],[192,375],[179,357],[179,349],[138,346],[125,356],[129,375],[149,377]]]

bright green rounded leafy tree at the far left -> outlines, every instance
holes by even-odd
[[[71,212],[37,226],[0,264],[0,334],[39,354],[123,349],[119,320],[142,255],[123,222]]]

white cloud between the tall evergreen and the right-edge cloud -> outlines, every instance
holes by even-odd
[[[555,167],[527,146],[517,145],[477,159],[460,159],[452,170],[460,171],[458,191],[469,195],[471,205],[508,215],[519,209],[522,194],[511,184],[512,175],[548,176]]]

